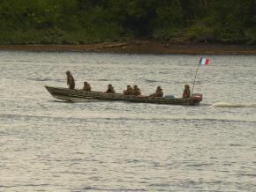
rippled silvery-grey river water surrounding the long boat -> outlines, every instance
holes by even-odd
[[[255,191],[256,56],[206,55],[199,107],[64,102],[44,85],[161,85],[180,97],[200,55],[0,52],[0,191]]]

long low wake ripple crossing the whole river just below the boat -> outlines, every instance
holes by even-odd
[[[169,115],[162,115],[162,114],[116,114],[116,113],[96,113],[96,112],[89,112],[89,113],[54,113],[54,114],[0,114],[0,117],[6,117],[8,119],[11,118],[49,118],[49,119],[56,119],[56,120],[121,120],[121,121],[208,121],[208,122],[256,122],[255,117],[241,117],[241,116],[191,116],[191,115],[177,115],[177,114],[169,114]]]

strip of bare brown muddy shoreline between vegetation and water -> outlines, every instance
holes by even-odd
[[[211,43],[174,43],[162,41],[102,42],[84,45],[70,44],[10,44],[0,50],[28,51],[88,51],[128,54],[188,54],[188,55],[256,55],[256,46]]]

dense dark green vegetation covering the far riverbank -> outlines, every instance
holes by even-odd
[[[0,43],[256,43],[256,0],[1,0]]]

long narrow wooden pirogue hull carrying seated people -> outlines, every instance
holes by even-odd
[[[128,101],[138,103],[155,103],[166,105],[184,105],[196,106],[200,104],[201,97],[191,99],[182,98],[154,98],[148,96],[124,95],[121,93],[105,93],[105,92],[87,92],[83,90],[72,90],[62,87],[52,87],[45,85],[48,92],[59,100],[78,101],[78,100],[109,100],[109,101]]]

